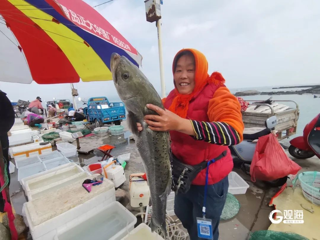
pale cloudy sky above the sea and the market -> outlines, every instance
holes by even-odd
[[[85,2],[95,6],[106,0]],[[203,52],[209,74],[219,71],[231,89],[320,83],[320,1],[163,2],[161,29],[167,93],[173,89],[172,60],[182,48]],[[95,9],[142,55],[140,69],[160,93],[157,29],[155,23],[146,21],[144,1],[113,0]],[[2,49],[5,44],[10,42],[1,43]],[[10,58],[4,50],[1,53],[0,47],[0,60]],[[17,61],[9,70],[24,77],[25,72],[20,69],[25,69],[25,64]],[[4,69],[0,66],[0,70]],[[107,96],[118,100],[112,81],[80,81],[74,86],[82,99]],[[0,89],[13,101],[31,101],[36,96],[47,101],[53,97],[71,99],[70,84],[0,82]]]

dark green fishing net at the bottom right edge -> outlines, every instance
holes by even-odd
[[[292,232],[260,230],[260,231],[250,233],[248,240],[309,240],[309,239]]]

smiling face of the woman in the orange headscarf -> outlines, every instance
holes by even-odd
[[[196,64],[192,53],[187,53],[177,61],[173,74],[176,88],[180,94],[191,94],[195,88]]]

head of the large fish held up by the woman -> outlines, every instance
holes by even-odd
[[[110,67],[120,99],[125,103],[129,99],[138,98],[143,86],[141,79],[145,78],[140,69],[117,53],[112,53]]]

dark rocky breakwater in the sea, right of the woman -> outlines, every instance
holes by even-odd
[[[287,87],[290,88],[290,87]],[[288,94],[320,94],[320,85],[315,85],[308,89],[298,91],[280,91],[280,92],[259,92],[255,90],[236,92],[235,96],[252,96],[252,95],[288,95]]]

